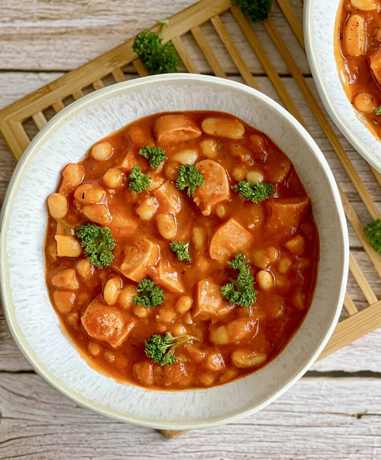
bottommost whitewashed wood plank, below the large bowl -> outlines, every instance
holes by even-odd
[[[380,379],[303,378],[246,419],[165,441],[76,406],[39,376],[5,373],[0,459],[376,460],[380,389]]]

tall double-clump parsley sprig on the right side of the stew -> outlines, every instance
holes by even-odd
[[[250,275],[249,261],[244,254],[238,252],[230,262],[226,262],[230,268],[239,270],[237,279],[229,278],[230,283],[222,286],[221,292],[224,298],[230,303],[250,307],[256,301],[257,291],[254,289],[254,278]]]

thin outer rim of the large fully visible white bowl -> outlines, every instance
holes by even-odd
[[[10,289],[6,288],[6,274],[5,274],[5,241],[6,241],[6,234],[5,234],[5,223],[9,216],[9,208],[10,204],[14,199],[15,194],[17,193],[17,188],[19,185],[20,175],[26,166],[29,157],[34,153],[36,148],[39,148],[40,142],[46,137],[49,136],[51,130],[54,130],[57,123],[62,121],[67,114],[70,112],[76,112],[81,106],[86,106],[87,104],[92,103],[97,98],[102,98],[105,95],[112,95],[114,92],[120,91],[121,88],[124,87],[133,87],[133,86],[141,86],[147,85],[150,82],[170,82],[170,81],[178,81],[178,80],[186,80],[190,82],[203,82],[206,84],[213,85],[213,83],[218,83],[220,85],[224,85],[227,88],[232,88],[240,91],[245,91],[250,95],[255,96],[256,98],[260,99],[264,102],[267,106],[271,107],[275,111],[279,113],[280,116],[284,117],[292,126],[293,128],[298,131],[298,133],[304,137],[306,143],[310,146],[311,150],[314,152],[323,173],[327,177],[329,182],[332,196],[335,203],[335,208],[337,211],[339,223],[340,223],[340,233],[341,233],[341,240],[342,240],[342,247],[343,247],[343,260],[341,264],[341,280],[340,280],[340,289],[336,293],[335,298],[335,306],[334,309],[332,308],[332,316],[331,321],[327,325],[325,331],[322,333],[322,337],[320,341],[316,344],[314,351],[311,353],[310,358],[289,377],[287,382],[281,386],[277,391],[275,391],[268,399],[266,399],[261,404],[257,404],[254,407],[250,407],[248,409],[239,410],[235,412],[233,415],[228,417],[221,417],[219,419],[214,420],[200,420],[200,421],[193,421],[189,423],[176,423],[173,424],[172,422],[160,421],[160,423],[152,423],[150,421],[142,420],[134,418],[131,414],[121,414],[113,411],[112,409],[107,410],[100,407],[97,403],[86,399],[84,396],[76,393],[71,388],[67,387],[62,381],[57,378],[51,370],[49,370],[46,365],[41,362],[34,350],[31,346],[26,342],[25,338],[23,337],[23,333],[21,332],[19,325],[15,318],[12,318],[14,315],[14,311],[11,311],[10,304],[11,299],[8,291]],[[73,102],[66,108],[64,108],[61,112],[55,115],[42,129],[41,131],[35,136],[35,138],[31,141],[27,149],[25,150],[23,156],[19,160],[16,168],[12,174],[11,180],[8,185],[8,189],[4,198],[3,206],[0,213],[0,293],[1,299],[4,309],[5,319],[7,321],[9,330],[13,337],[13,340],[16,342],[18,348],[21,350],[24,357],[29,361],[33,369],[41,375],[49,384],[51,384],[54,388],[59,390],[63,393],[66,397],[74,401],[75,403],[79,404],[82,407],[90,409],[96,413],[104,415],[108,418],[112,418],[114,420],[127,422],[127,423],[134,423],[140,426],[156,428],[156,429],[169,429],[169,430],[179,430],[179,429],[194,429],[194,428],[205,428],[211,426],[217,426],[221,424],[230,423],[232,421],[238,420],[240,418],[246,417],[251,415],[252,413],[261,410],[268,404],[272,403],[275,399],[281,396],[284,392],[286,392],[297,380],[302,377],[302,375],[309,369],[309,367],[315,362],[321,351],[323,350],[324,346],[327,344],[331,334],[333,333],[334,328],[336,327],[336,323],[339,319],[339,315],[341,312],[344,295],[345,295],[345,287],[347,282],[347,275],[348,275],[348,267],[349,267],[349,239],[348,239],[348,232],[347,232],[347,224],[346,218],[344,214],[344,209],[341,203],[340,194],[338,187],[336,185],[336,181],[334,176],[328,166],[325,157],[323,156],[322,152],[318,148],[318,145],[310,136],[310,134],[306,131],[306,129],[296,120],[289,112],[287,112],[283,107],[281,107],[277,102],[270,99],[268,96],[260,93],[259,91],[244,85],[242,83],[238,83],[232,80],[227,80],[224,78],[209,76],[209,75],[195,75],[195,74],[188,74],[188,73],[176,73],[176,74],[165,74],[165,75],[154,75],[154,76],[147,76],[142,77],[134,80],[128,80],[122,83],[117,83],[114,85],[110,85],[106,88],[102,88],[100,90],[94,91],[81,99]],[[334,301],[332,303],[334,303]],[[15,310],[15,308],[13,308]],[[307,313],[308,314],[308,313]]]

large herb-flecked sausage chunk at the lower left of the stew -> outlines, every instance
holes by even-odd
[[[87,334],[116,348],[123,344],[135,323],[117,307],[95,299],[85,308],[81,322]]]

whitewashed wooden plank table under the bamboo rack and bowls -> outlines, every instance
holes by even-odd
[[[192,2],[1,0],[0,108]],[[291,3],[302,20],[303,1]],[[286,42],[296,44],[277,7],[273,8],[273,19]],[[229,17],[224,20],[229,26]],[[333,173],[360,218],[367,222],[369,216],[361,200],[285,64],[265,39],[261,26],[255,27]],[[213,35],[208,39],[229,77],[239,80],[218,39]],[[242,37],[237,33],[235,39],[239,46]],[[316,92],[303,52],[298,46],[292,49]],[[208,72],[206,63],[194,53],[198,68]],[[246,56],[244,51],[243,55],[262,91],[278,99],[253,55]],[[380,205],[380,189],[366,163],[342,136],[340,139]],[[12,155],[0,140],[0,203],[14,166]],[[351,229],[350,243],[361,264],[364,253],[358,249],[360,244]],[[368,270],[365,274],[381,298],[381,283],[375,273]],[[348,290],[358,305],[365,306],[351,277]],[[380,340],[381,330],[376,330],[322,359],[275,403],[251,417],[189,431],[167,441],[154,430],[118,423],[83,409],[50,387],[14,344],[0,308],[0,459],[381,459]]]

